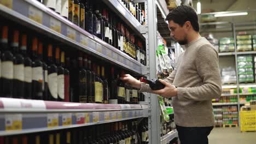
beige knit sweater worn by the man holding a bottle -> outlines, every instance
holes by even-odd
[[[222,93],[218,52],[201,37],[186,47],[166,79],[178,87],[177,97],[172,97],[174,121],[182,127],[210,127],[214,125],[212,99]],[[141,84],[141,92],[151,91]]]

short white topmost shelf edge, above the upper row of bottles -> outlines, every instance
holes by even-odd
[[[145,36],[141,34],[141,28],[143,28],[143,26],[130,13],[130,11],[126,9],[123,2],[119,0],[103,0],[103,2],[106,3],[110,7],[110,9],[115,12],[115,14],[119,15],[121,19],[133,29],[133,31],[136,31],[139,37],[141,37],[143,40],[146,39]]]

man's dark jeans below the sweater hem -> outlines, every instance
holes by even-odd
[[[213,127],[181,127],[176,125],[181,144],[208,144]]]

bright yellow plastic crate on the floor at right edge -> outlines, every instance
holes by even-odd
[[[256,111],[240,111],[241,131],[256,131]]]

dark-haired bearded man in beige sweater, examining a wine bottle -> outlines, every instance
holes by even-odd
[[[121,79],[141,92],[172,98],[174,122],[181,144],[208,143],[213,129],[212,99],[219,98],[222,84],[218,52],[199,34],[198,17],[189,6],[179,6],[166,17],[168,27],[185,50],[177,60],[177,67],[165,80],[165,88],[153,91],[146,83],[126,74]],[[177,87],[177,88],[176,88]]]

